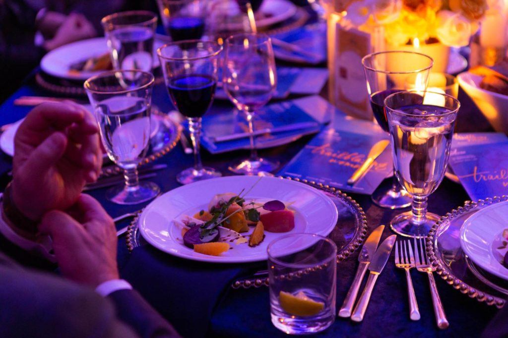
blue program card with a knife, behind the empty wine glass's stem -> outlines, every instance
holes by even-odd
[[[256,147],[268,148],[285,144],[300,136],[319,131],[321,126],[319,121],[291,101],[272,104],[258,111],[253,120],[255,131],[275,130],[256,136]],[[224,141],[225,137],[241,133],[248,133],[248,124],[245,114],[237,110],[207,114],[203,117],[202,144],[212,154],[249,148],[248,135]]]

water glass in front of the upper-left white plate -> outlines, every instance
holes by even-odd
[[[119,12],[105,16],[101,22],[116,70],[152,70],[155,13]]]

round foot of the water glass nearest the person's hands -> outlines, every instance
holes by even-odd
[[[138,204],[155,198],[160,192],[161,188],[153,182],[139,182],[136,188],[115,186],[106,191],[106,198],[116,204]]]

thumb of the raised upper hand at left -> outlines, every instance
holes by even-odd
[[[43,175],[63,156],[66,148],[67,137],[62,132],[55,131],[31,152],[24,165],[31,172]]]

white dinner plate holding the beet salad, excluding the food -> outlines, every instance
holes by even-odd
[[[265,240],[253,248],[247,243],[230,243],[233,249],[220,256],[200,254],[183,245],[181,228],[173,223],[175,218],[207,210],[210,200],[216,194],[240,193],[242,189],[247,191],[252,186],[245,197],[247,200],[278,199],[294,202],[289,207],[295,212],[293,230],[282,233],[265,231]],[[333,201],[323,192],[303,183],[273,177],[263,177],[260,180],[257,176],[228,176],[185,185],[157,197],[143,210],[138,222],[143,238],[155,248],[171,255],[213,263],[242,263],[266,260],[268,244],[288,233],[309,232],[326,236],[335,227],[337,218],[338,212]],[[250,232],[252,229],[242,235]],[[288,253],[294,250],[289,247]]]

